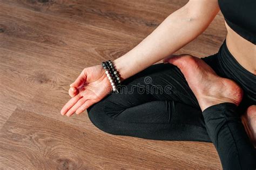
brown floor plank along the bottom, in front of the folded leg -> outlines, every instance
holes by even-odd
[[[1,168],[221,168],[212,144],[119,137],[20,109],[0,139]]]

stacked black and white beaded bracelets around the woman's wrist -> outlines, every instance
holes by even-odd
[[[107,75],[107,78],[109,78],[109,81],[110,81],[111,86],[112,86],[112,90],[117,91],[117,87],[121,84],[121,80],[120,80],[120,77],[119,77],[119,74],[118,74],[116,68],[114,67],[111,60],[108,60],[106,62],[102,62],[102,66],[105,69],[105,73]]]

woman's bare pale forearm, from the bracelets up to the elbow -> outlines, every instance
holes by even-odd
[[[122,79],[129,78],[170,56],[200,35],[211,23],[218,9],[204,14],[204,11],[193,11],[200,10],[196,5],[188,2],[183,8],[173,12],[136,47],[114,60]]]

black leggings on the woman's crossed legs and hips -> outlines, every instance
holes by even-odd
[[[218,75],[235,80],[244,89],[239,111],[256,103],[256,77],[237,63],[225,42],[217,54],[203,60]],[[235,73],[230,72],[231,67]],[[178,67],[152,65],[124,80],[123,85],[119,93],[106,96],[87,110],[100,130],[145,139],[213,142],[224,169],[256,168],[255,151],[238,108],[223,103],[208,107],[202,114]]]

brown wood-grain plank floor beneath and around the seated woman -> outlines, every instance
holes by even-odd
[[[115,136],[86,112],[60,115],[84,67],[123,55],[186,2],[0,0],[0,168],[220,169],[212,144]],[[212,55],[225,35],[219,13],[177,53]]]

